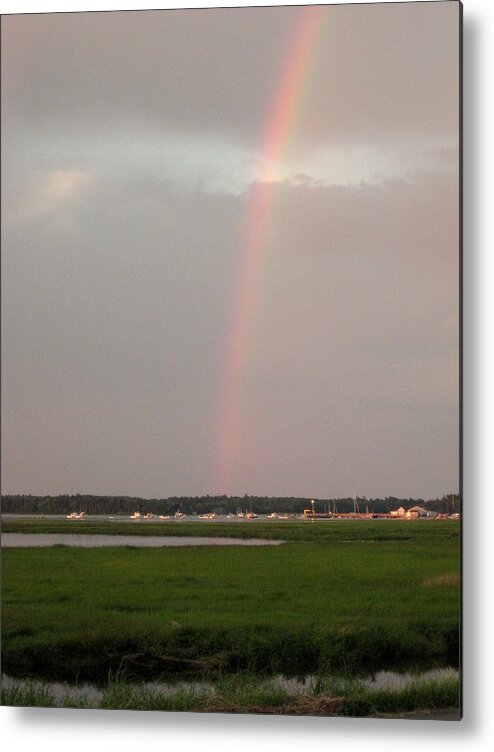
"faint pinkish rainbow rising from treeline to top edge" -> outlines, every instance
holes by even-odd
[[[241,386],[248,354],[248,338],[261,273],[273,186],[276,184],[284,149],[295,129],[304,84],[314,57],[325,7],[305,6],[289,41],[278,87],[269,108],[261,142],[260,177],[249,194],[239,282],[234,299],[223,363],[220,411],[215,442],[215,493],[232,492],[232,473],[241,429]]]

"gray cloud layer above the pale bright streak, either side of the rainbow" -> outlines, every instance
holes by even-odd
[[[255,148],[298,7],[4,19],[5,105],[39,131],[93,138],[152,122]],[[328,7],[297,140],[457,136],[458,4]],[[309,107],[310,104],[310,107]]]

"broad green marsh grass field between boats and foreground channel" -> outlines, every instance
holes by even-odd
[[[2,551],[13,676],[104,682],[458,665],[455,521],[9,521],[3,532],[281,538],[268,548]]]

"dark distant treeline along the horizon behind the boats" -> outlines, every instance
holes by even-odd
[[[166,499],[142,499],[132,496],[92,496],[75,494],[72,496],[30,496],[10,495],[1,497],[1,511],[5,514],[69,514],[86,512],[86,514],[122,514],[133,512],[146,514],[216,514],[254,512],[270,514],[302,514],[304,509],[311,509],[312,499],[300,497],[268,496],[172,496]],[[410,509],[421,506],[433,512],[451,514],[461,512],[458,494],[445,494],[438,499],[400,499],[387,496],[385,499],[357,498],[358,510],[370,514],[385,514],[403,507]],[[328,511],[346,513],[354,511],[353,498],[315,499],[316,514]]]

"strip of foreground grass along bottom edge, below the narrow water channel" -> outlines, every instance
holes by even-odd
[[[110,678],[96,696],[72,688],[58,697],[49,685],[29,681],[3,689],[2,705],[363,717],[458,710],[459,687],[457,676],[446,674],[417,677],[401,688],[319,678],[296,692],[279,680],[241,674],[208,687],[181,685],[172,691]]]

